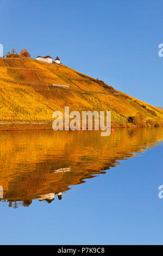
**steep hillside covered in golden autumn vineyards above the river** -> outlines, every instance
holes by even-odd
[[[53,84],[69,86],[59,88]],[[62,64],[0,58],[0,120],[52,121],[54,111],[111,111],[114,126],[163,126],[162,109]]]

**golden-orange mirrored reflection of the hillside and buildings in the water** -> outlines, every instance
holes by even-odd
[[[49,203],[57,194],[61,199],[69,186],[155,145],[162,130],[115,129],[109,137],[101,137],[100,131],[1,132],[2,201],[17,207],[29,206],[35,198]]]

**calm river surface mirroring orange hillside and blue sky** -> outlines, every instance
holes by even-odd
[[[160,127],[0,132],[0,243],[163,244],[162,142]]]

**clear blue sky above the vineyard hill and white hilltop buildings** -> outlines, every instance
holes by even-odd
[[[163,106],[162,0],[0,0],[4,52],[60,57],[137,99]]]

